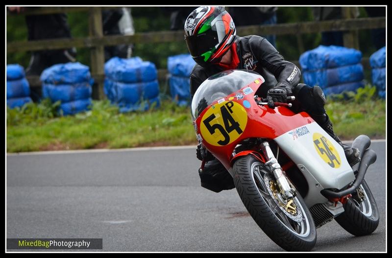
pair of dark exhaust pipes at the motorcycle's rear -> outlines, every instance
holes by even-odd
[[[354,145],[354,143],[356,143],[356,145]],[[359,144],[361,144],[361,145],[359,145]],[[366,136],[366,135],[358,136],[354,140],[352,146],[360,149],[360,151],[361,151],[361,162],[358,164],[358,166],[359,166],[359,168],[357,168],[358,173],[357,173],[357,177],[354,180],[354,183],[352,184],[352,186],[350,188],[347,188],[347,189],[345,189],[343,191],[339,191],[339,192],[334,192],[329,189],[322,189],[320,191],[320,193],[324,197],[326,197],[328,199],[341,198],[349,193],[353,193],[359,187],[359,185],[361,185],[362,180],[364,180],[365,174],[368,170],[369,165],[373,164],[376,161],[377,154],[373,150],[368,149],[368,150],[364,151],[364,149],[367,149],[370,146],[370,139],[368,138],[368,136]],[[356,165],[353,166],[353,171],[356,171],[356,170],[354,170],[354,167]]]

